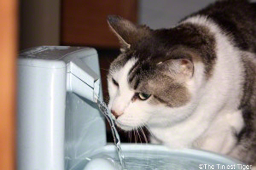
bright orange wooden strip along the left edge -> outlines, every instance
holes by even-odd
[[[0,0],[0,170],[15,170],[17,0]]]

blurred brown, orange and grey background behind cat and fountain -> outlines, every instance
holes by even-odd
[[[108,28],[108,14],[151,28],[169,28],[214,0],[0,0],[0,169],[14,170],[16,58],[18,51],[38,45],[96,48],[102,86],[108,101],[106,74],[119,54]],[[256,2],[256,0],[252,0]],[[108,130],[108,142],[112,136]],[[136,133],[121,133],[122,142],[144,142]]]

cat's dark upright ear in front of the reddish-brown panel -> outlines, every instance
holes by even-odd
[[[118,37],[122,48],[128,49],[142,36],[148,34],[149,28],[137,26],[128,20],[116,15],[108,16],[108,25]]]

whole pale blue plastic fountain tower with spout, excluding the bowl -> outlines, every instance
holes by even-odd
[[[17,64],[18,170],[68,170],[106,144],[105,122],[92,102],[102,96],[93,48],[30,48]]]

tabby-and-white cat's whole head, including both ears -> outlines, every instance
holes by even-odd
[[[152,30],[119,16],[108,17],[108,24],[122,45],[108,74],[109,108],[116,125],[132,130],[186,119],[197,84],[204,79],[195,73],[205,72],[202,52],[194,48],[202,43],[202,30],[189,24]]]

